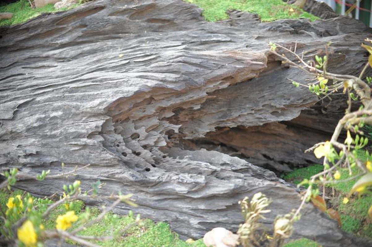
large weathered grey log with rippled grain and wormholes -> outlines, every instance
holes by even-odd
[[[100,179],[103,194],[133,193],[135,212],[189,237],[218,226],[236,231],[238,200],[256,192],[273,199],[267,227],[300,203],[295,189],[269,170],[221,150],[187,150],[197,149],[191,146],[200,138],[217,131],[221,136],[210,141],[223,143],[224,128],[242,130],[255,147],[244,152],[275,147],[275,155],[265,155],[280,160],[293,148],[307,164],[311,158],[300,155],[305,146],[329,134],[315,136],[317,124],[302,121],[312,119],[300,113],[317,98],[286,78],[308,75],[282,68],[267,40],[297,42],[299,52],[309,51],[306,58],[331,42],[329,69],[356,74],[366,61],[360,42],[371,34],[344,17],[260,23],[254,14],[232,12],[230,20],[208,23],[200,9],[171,0],[94,1],[0,32],[2,168],[36,174],[58,173],[61,162],[65,169],[91,164],[75,178],[17,185],[49,195],[74,179],[85,186]],[[283,123],[298,116],[296,128]],[[116,211],[129,209],[122,204]],[[312,205],[295,227],[294,238],[324,246],[366,244]]]

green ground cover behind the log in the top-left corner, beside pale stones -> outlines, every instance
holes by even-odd
[[[70,8],[76,7],[78,5],[79,4],[75,4]],[[66,9],[59,9],[58,11],[64,10]],[[57,10],[54,9],[53,4],[48,4],[42,8],[32,9],[28,0],[20,0],[15,3],[0,6],[0,12],[13,13],[12,19],[0,20],[0,26],[9,26],[26,22],[36,16],[39,16],[42,13],[53,13],[57,12]]]

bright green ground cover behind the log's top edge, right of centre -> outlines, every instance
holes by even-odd
[[[203,16],[209,22],[228,19],[227,10],[241,10],[257,13],[263,22],[278,19],[319,19],[302,9],[291,7],[282,0],[185,0],[203,9]],[[293,10],[293,11],[291,11]]]

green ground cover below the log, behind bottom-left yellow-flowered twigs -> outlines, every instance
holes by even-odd
[[[6,203],[10,197],[15,197],[16,195],[22,195],[23,203],[26,204],[26,192],[21,190],[15,191],[8,191],[7,189],[0,190],[0,209],[2,212],[5,212],[7,207]],[[34,202],[41,206],[47,206],[51,204],[52,201],[48,199],[42,199],[43,203],[38,204],[41,199],[34,198]],[[74,204],[68,209],[68,211],[73,210],[75,211],[76,215],[80,215],[86,209],[85,204],[82,201],[76,201]],[[67,209],[65,205],[60,205],[51,213],[49,217],[45,220],[41,221],[41,224],[44,225],[45,229],[55,229],[56,225],[56,218],[58,215],[65,214]],[[93,220],[99,215],[99,210],[97,208],[91,209],[91,216],[90,220]],[[119,216],[113,213],[109,213],[105,215],[105,217],[97,222],[96,224],[87,227],[85,230],[81,231],[79,235],[92,235],[92,236],[108,236],[111,235],[115,231],[120,231],[120,229],[125,228],[128,224],[135,222],[135,219],[130,216]],[[0,227],[4,222],[0,220]],[[77,223],[73,223],[72,229],[77,227]],[[123,238],[124,237],[124,238]],[[68,241],[70,244],[74,244],[73,241]],[[154,223],[149,219],[142,220],[141,225],[134,225],[129,228],[122,237],[117,237],[111,241],[105,242],[97,242],[102,246],[109,246],[109,247],[157,247],[157,246],[164,246],[164,247],[205,247],[203,244],[203,240],[199,239],[193,241],[192,243],[186,243],[183,240],[180,240],[178,234],[174,233],[170,230],[169,225],[165,222],[157,222]]]

